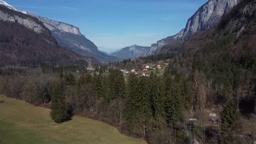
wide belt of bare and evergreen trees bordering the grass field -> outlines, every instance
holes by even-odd
[[[149,143],[187,143],[191,138],[182,124],[184,112],[193,104],[191,83],[184,76],[131,74],[125,81],[120,70],[110,69],[107,75],[40,74],[0,79],[0,91],[7,97],[33,105],[51,101],[51,117],[57,123],[82,115],[113,124],[129,135],[146,137]]]

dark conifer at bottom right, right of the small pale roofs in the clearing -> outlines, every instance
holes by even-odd
[[[233,100],[228,101],[228,104],[224,107],[221,118],[222,124],[220,126],[222,129],[222,143],[234,143],[236,141],[235,136],[240,128],[240,123],[238,122],[240,113]]]

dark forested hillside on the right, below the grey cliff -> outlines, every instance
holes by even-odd
[[[231,97],[243,114],[252,113],[256,105],[255,32],[256,3],[242,1],[217,27],[196,33],[184,43],[184,52],[176,56],[166,72],[191,76],[201,71],[201,79],[208,83],[205,103],[223,104]]]

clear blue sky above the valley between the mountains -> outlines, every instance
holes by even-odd
[[[207,0],[6,0],[20,10],[80,28],[100,50],[150,46],[178,33]]]

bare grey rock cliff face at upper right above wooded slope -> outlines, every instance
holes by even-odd
[[[220,17],[234,7],[240,0],[210,0],[203,4],[196,13],[188,19],[187,25],[176,35],[159,40],[152,44],[146,56],[155,55],[162,46],[175,41],[188,40],[197,31],[204,31],[207,28],[216,26]]]

